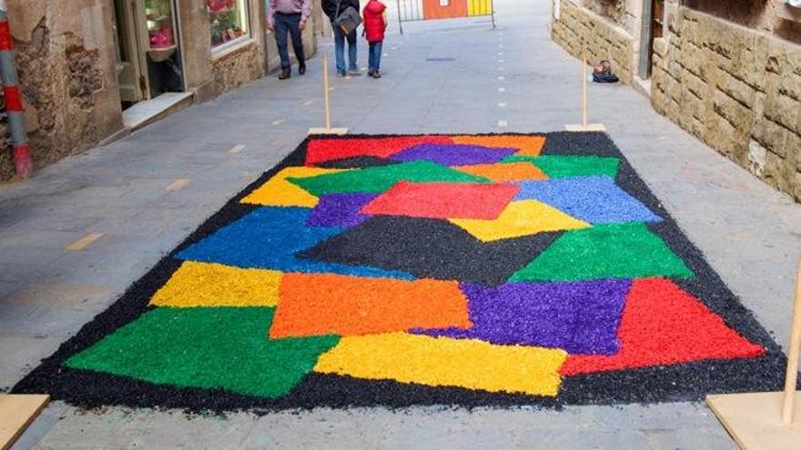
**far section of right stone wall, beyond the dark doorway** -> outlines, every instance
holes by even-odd
[[[587,8],[569,0],[561,2],[560,19],[552,22],[553,41],[579,58],[582,46],[586,44],[587,59],[591,63],[609,60],[614,74],[625,84],[630,84],[634,75],[634,37]]]

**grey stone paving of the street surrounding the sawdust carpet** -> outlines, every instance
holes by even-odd
[[[496,0],[496,31],[489,19],[409,24],[402,36],[390,30],[383,79],[335,81],[334,125],[353,133],[478,133],[553,131],[575,122],[579,66],[548,38],[550,4]],[[321,125],[319,59],[309,64],[305,77],[260,80],[50,166],[25,185],[0,187],[0,386],[14,385],[288,154],[309,126]],[[786,344],[801,207],[656,115],[630,88],[592,86],[591,95],[591,119],[607,125],[687,235]],[[237,145],[244,147],[230,150]],[[85,250],[66,250],[86,233],[103,235]],[[86,413],[54,403],[14,448],[543,445],[734,447],[700,404],[221,418],[123,408]]]

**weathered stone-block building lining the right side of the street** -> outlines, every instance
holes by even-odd
[[[801,200],[801,8],[785,0],[554,0],[553,40],[609,59],[654,108]]]

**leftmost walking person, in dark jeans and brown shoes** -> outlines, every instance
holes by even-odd
[[[279,80],[286,80],[292,75],[287,48],[287,34],[292,37],[292,49],[298,59],[298,74],[306,74],[306,55],[303,54],[303,40],[300,33],[306,29],[306,21],[311,15],[311,0],[268,0],[267,28],[275,32],[276,44],[279,46],[281,73]]]

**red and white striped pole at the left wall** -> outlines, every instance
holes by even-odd
[[[8,132],[14,146],[16,176],[25,179],[34,173],[31,161],[31,146],[25,134],[25,110],[19,92],[19,79],[14,60],[14,40],[8,26],[5,0],[0,0],[0,80],[5,95],[5,111],[8,114]]]

